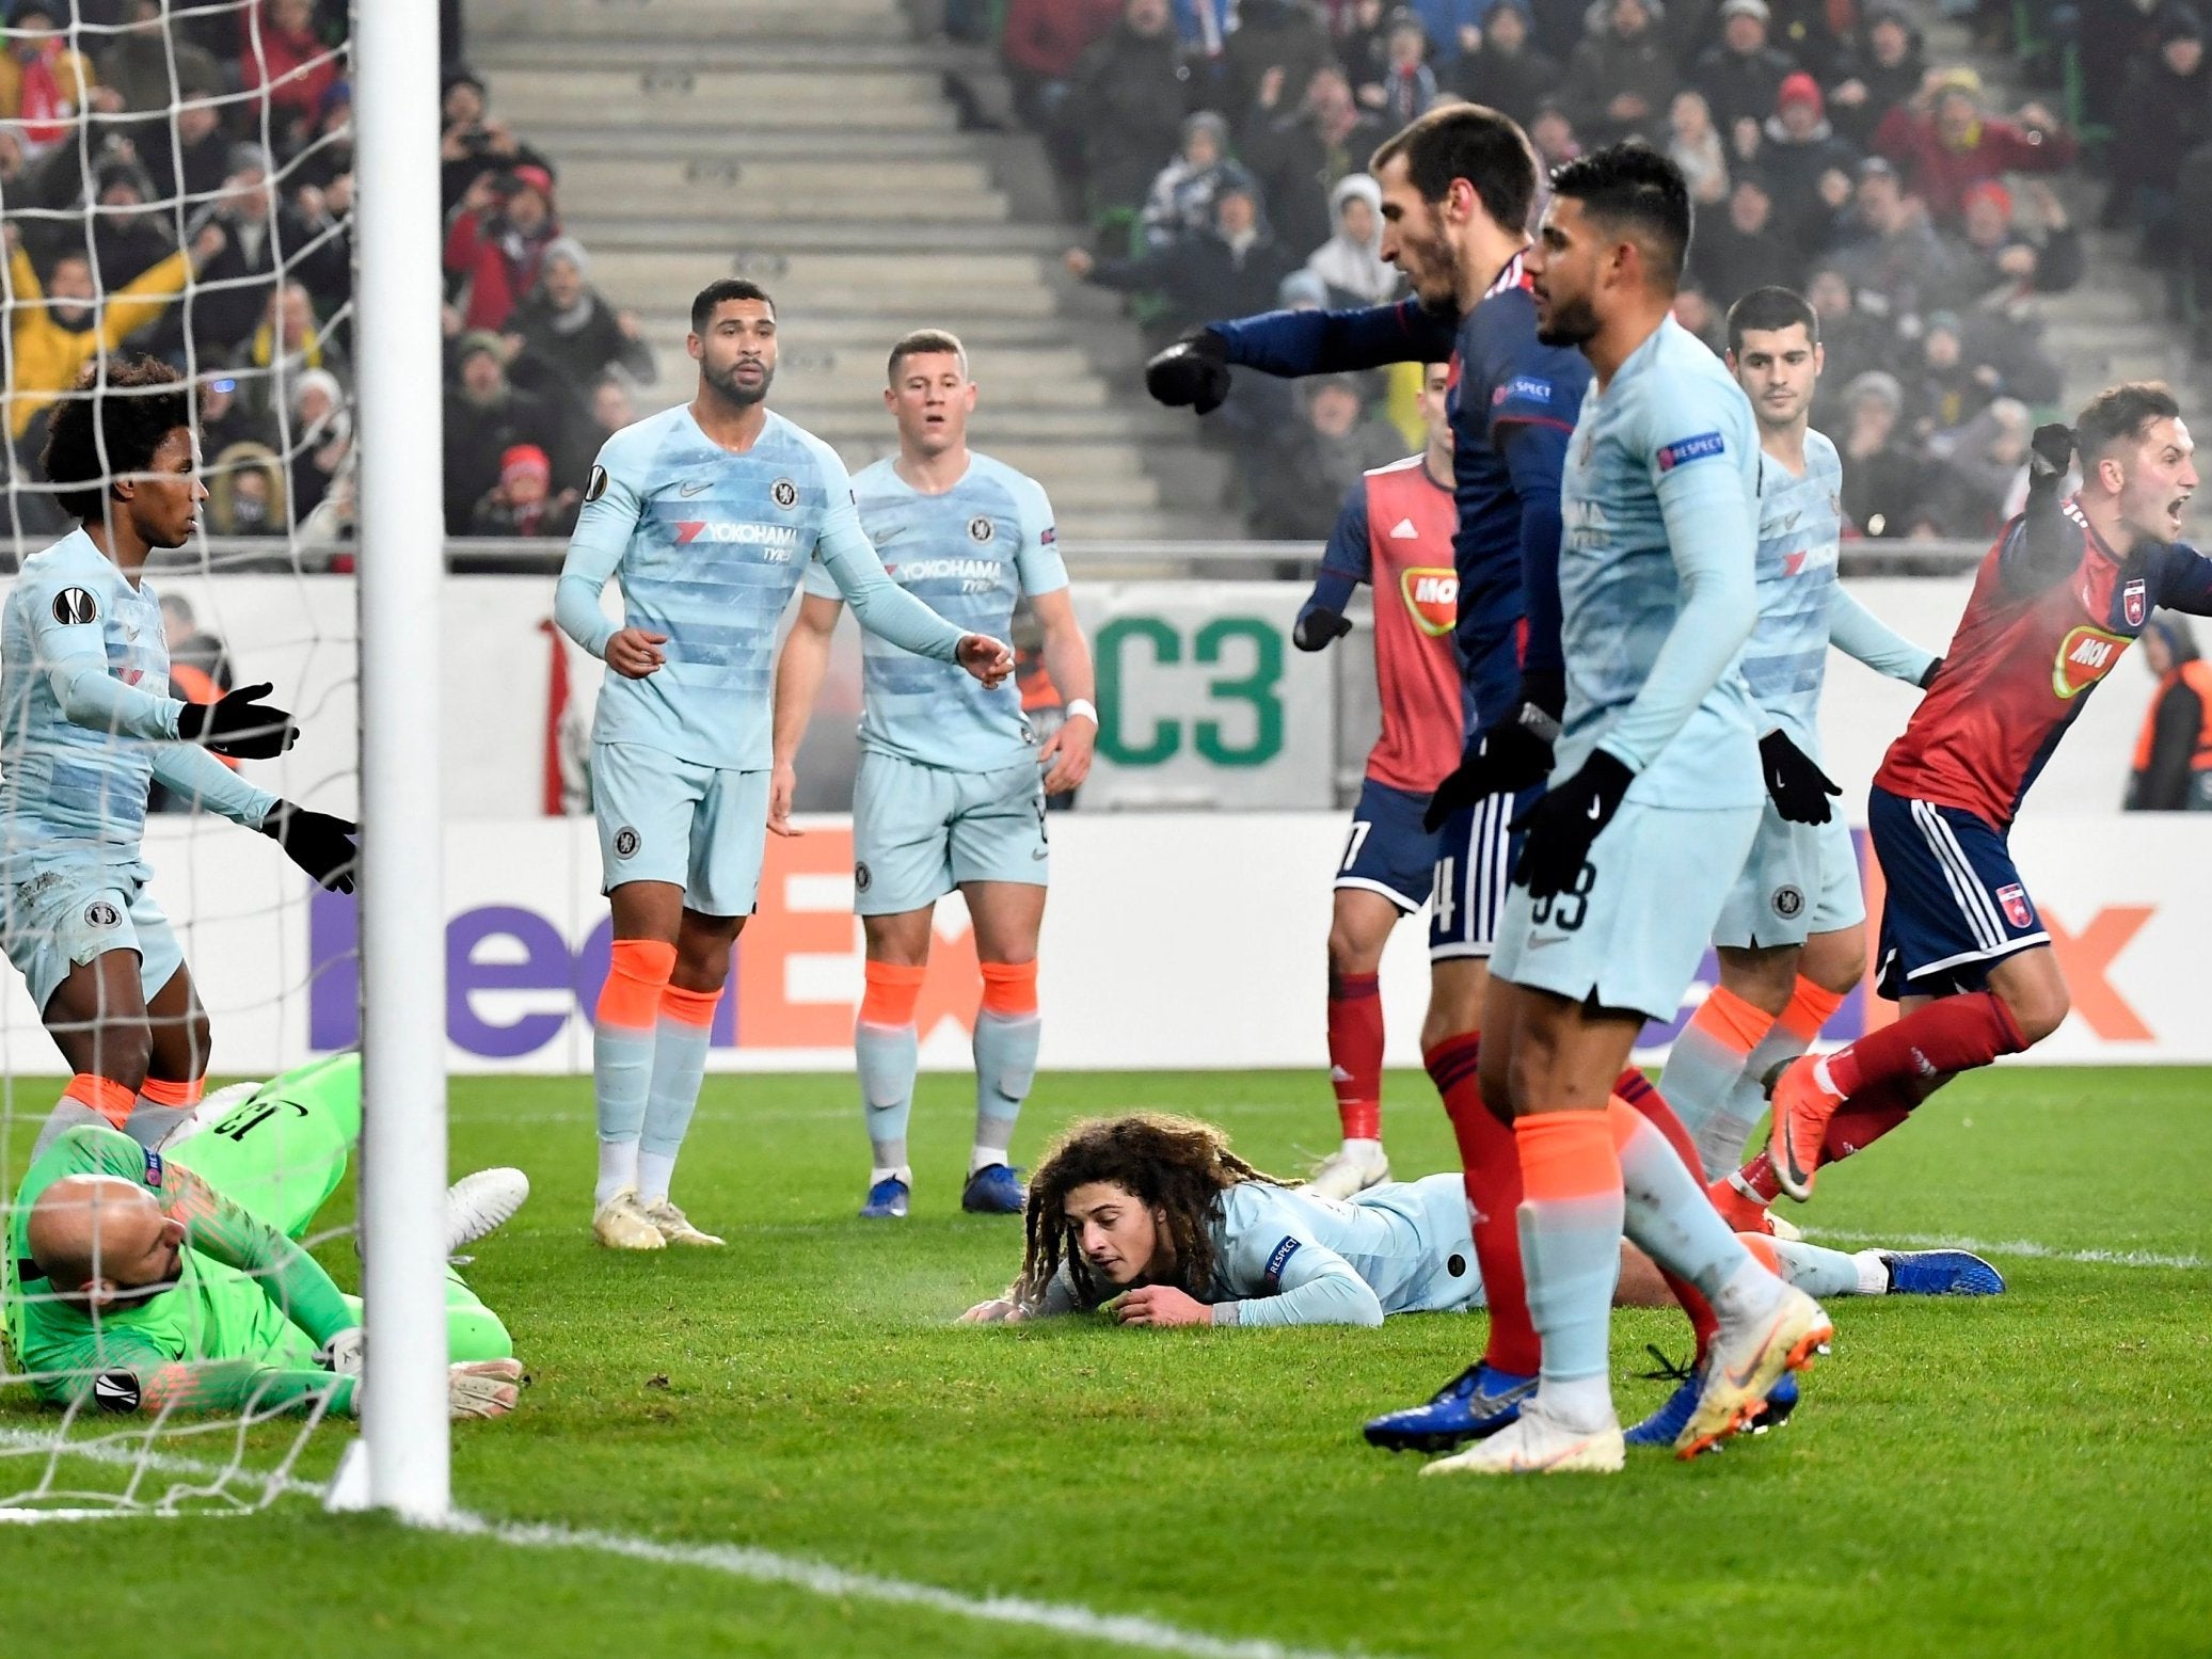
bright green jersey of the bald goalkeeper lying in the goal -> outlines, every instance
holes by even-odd
[[[188,1248],[179,1254],[173,1290],[97,1314],[51,1296],[31,1261],[31,1206],[71,1175],[135,1181],[186,1223]],[[137,1409],[142,1398],[153,1405],[146,1396],[197,1409],[283,1405],[332,1385],[314,1365],[314,1349],[361,1323],[330,1274],[296,1243],[184,1166],[97,1126],[58,1137],[24,1175],[0,1272],[15,1358],[33,1374],[42,1398],[64,1405],[86,1391],[124,1411]],[[349,1396],[347,1380],[332,1409],[347,1409]]]

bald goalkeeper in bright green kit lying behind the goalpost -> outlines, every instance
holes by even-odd
[[[15,1365],[53,1405],[102,1411],[361,1409],[361,1301],[301,1245],[361,1139],[361,1057],[263,1084],[164,1157],[97,1124],[64,1130],[9,1214],[4,1325]],[[520,1170],[447,1194],[447,1252],[529,1197]],[[447,1270],[447,1400],[456,1418],[513,1411],[522,1365],[507,1327]]]

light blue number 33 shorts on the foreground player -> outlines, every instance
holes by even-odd
[[[1650,1020],[1681,1013],[1761,807],[1648,807],[1626,801],[1575,887],[1542,902],[1515,887],[1491,973]]]

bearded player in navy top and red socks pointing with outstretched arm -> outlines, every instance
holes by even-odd
[[[1537,338],[1522,268],[1537,170],[1515,122],[1471,104],[1438,108],[1378,148],[1369,170],[1383,186],[1383,254],[1405,270],[1409,299],[1210,323],[1159,354],[1146,385],[1161,403],[1206,414],[1228,394],[1230,365],[1294,376],[1449,356],[1458,372],[1455,644],[1473,708],[1460,768],[1422,823],[1442,832],[1440,856],[1464,872],[1451,927],[1431,931],[1431,958],[1438,947],[1464,953],[1431,964],[1429,1029],[1451,1035],[1425,1062],[1460,1144],[1491,1334],[1482,1360],[1433,1400],[1367,1425],[1374,1444],[1440,1449],[1513,1422],[1535,1389],[1537,1336],[1515,1232],[1520,1159],[1513,1133],[1484,1104],[1478,1066],[1513,856],[1509,821],[1544,779],[1564,706],[1559,473],[1590,367],[1571,345]],[[1639,1110],[1663,1110],[1641,1073],[1617,1084]]]

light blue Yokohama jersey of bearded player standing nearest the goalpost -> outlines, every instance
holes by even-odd
[[[752,447],[732,453],[679,405],[608,438],[555,617],[595,657],[617,626],[668,635],[668,661],[644,679],[606,677],[593,741],[765,770],[776,622],[816,557],[865,622],[865,593],[889,584],[860,533],[845,462],[814,434],[770,411]],[[622,584],[622,624],[599,611],[608,577]],[[914,646],[953,657],[958,628],[896,593],[883,611],[880,624]]]

